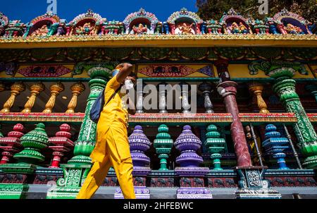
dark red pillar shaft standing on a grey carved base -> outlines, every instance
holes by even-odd
[[[233,118],[230,130],[232,141],[235,146],[235,154],[237,155],[237,166],[252,166],[247,140],[239,118],[239,109],[235,98],[235,95],[237,94],[237,83],[230,80],[228,61],[218,60],[215,65],[220,77],[220,83],[218,84],[217,90],[224,99],[226,111],[230,113]]]

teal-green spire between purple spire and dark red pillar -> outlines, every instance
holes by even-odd
[[[211,153],[211,159],[213,159],[213,170],[222,170],[220,166],[220,154],[225,150],[225,139],[220,138],[220,133],[215,125],[209,125],[207,127],[206,141],[204,145],[208,148]]]

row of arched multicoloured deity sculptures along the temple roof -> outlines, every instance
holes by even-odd
[[[166,22],[160,22],[153,13],[140,8],[135,13],[130,13],[121,23],[118,20],[107,21],[99,14],[88,10],[74,18],[70,23],[51,12],[39,16],[26,25],[20,20],[8,20],[0,13],[0,36],[4,37],[49,37],[66,35],[198,35],[198,34],[312,34],[316,29],[308,20],[286,9],[276,13],[273,18],[254,20],[244,18],[231,8],[223,13],[220,20],[204,21],[196,13],[182,8],[171,14]]]

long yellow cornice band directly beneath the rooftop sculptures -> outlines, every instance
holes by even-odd
[[[0,38],[0,49],[42,47],[317,47],[317,35],[104,35]]]

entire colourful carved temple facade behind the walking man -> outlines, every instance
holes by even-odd
[[[96,142],[89,111],[121,62],[142,80],[128,128],[138,198],[317,197],[316,47],[316,23],[285,9],[0,13],[0,198],[75,198]],[[102,188],[123,197],[113,169]]]

